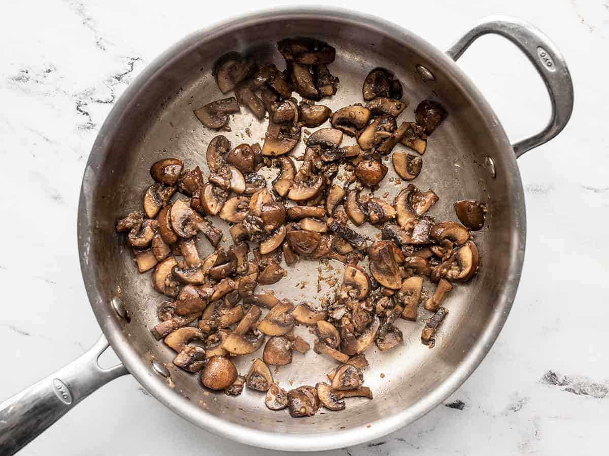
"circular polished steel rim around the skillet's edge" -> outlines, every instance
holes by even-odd
[[[130,341],[121,331],[119,322],[110,306],[102,301],[97,292],[99,284],[97,283],[95,268],[96,256],[94,250],[90,249],[91,237],[94,231],[94,223],[90,219],[90,213],[93,207],[96,184],[99,181],[96,169],[103,161],[111,136],[121,122],[122,113],[128,110],[130,102],[135,98],[138,91],[141,90],[145,81],[155,77],[155,74],[162,67],[171,65],[172,61],[179,58],[181,54],[189,52],[192,47],[200,46],[202,41],[211,41],[219,35],[225,35],[234,30],[260,22],[289,19],[324,19],[364,27],[384,35],[389,35],[398,43],[415,43],[419,49],[428,53],[431,56],[431,60],[436,62],[438,67],[442,67],[445,75],[455,80],[463,89],[463,92],[468,94],[469,101],[485,114],[484,118],[488,119],[489,130],[495,134],[496,142],[500,145],[498,152],[502,156],[509,154],[509,156],[504,157],[504,169],[502,172],[506,176],[510,176],[512,184],[511,195],[513,207],[515,208],[516,226],[512,229],[513,246],[512,251],[510,251],[509,274],[505,278],[506,286],[504,292],[501,295],[501,299],[495,303],[492,319],[488,322],[487,327],[481,333],[476,344],[473,345],[465,358],[463,358],[463,361],[441,384],[428,394],[422,396],[418,402],[415,402],[409,408],[400,410],[400,412],[393,415],[385,416],[365,426],[335,430],[331,434],[275,434],[273,432],[256,430],[252,427],[225,421],[220,417],[211,415],[211,413],[206,413],[205,410],[194,406],[187,399],[176,395],[174,391],[166,387],[166,383],[160,377],[153,375],[152,370],[142,362],[142,359],[131,347]],[[233,16],[224,21],[216,22],[216,24],[206,29],[191,33],[165,50],[150,62],[138,77],[132,81],[114,104],[107,119],[105,119],[85,167],[79,199],[78,246],[83,282],[85,283],[85,289],[97,322],[125,367],[158,401],[202,429],[213,432],[213,434],[220,435],[221,437],[239,441],[240,443],[283,451],[323,451],[364,443],[412,423],[448,398],[470,377],[471,373],[482,362],[501,332],[505,320],[507,320],[521,276],[525,243],[526,210],[524,206],[524,190],[518,165],[516,164],[516,157],[501,122],[499,122],[495,112],[488,105],[488,102],[470,78],[442,50],[432,46],[432,44],[429,44],[420,36],[404,29],[398,24],[385,21],[376,16],[324,6],[308,5],[303,7],[267,9],[255,14],[246,13],[240,16]],[[183,406],[181,406],[180,401],[183,401]]]

